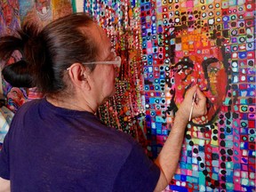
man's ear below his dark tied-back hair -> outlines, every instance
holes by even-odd
[[[71,82],[78,87],[82,86],[89,86],[87,88],[90,88],[90,85],[88,84],[87,77],[90,73],[89,68],[85,68],[83,65],[80,63],[73,63],[69,68],[68,68],[68,76],[71,80]]]

